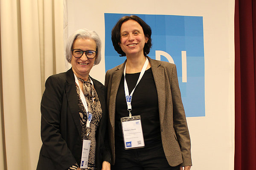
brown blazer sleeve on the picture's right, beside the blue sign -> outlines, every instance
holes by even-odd
[[[174,65],[172,69],[172,79],[170,82],[173,103],[173,126],[175,129],[175,134],[177,136],[177,141],[180,145],[181,155],[183,159],[183,163],[181,165],[191,166],[192,160],[190,136],[186,122],[186,115],[181,100],[176,65]]]

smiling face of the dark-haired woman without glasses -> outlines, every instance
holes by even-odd
[[[135,20],[128,20],[122,23],[120,47],[126,56],[144,55],[143,48],[148,38],[145,37],[143,28]]]

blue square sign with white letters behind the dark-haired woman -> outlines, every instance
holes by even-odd
[[[122,64],[111,42],[111,30],[123,16],[105,13],[105,69]],[[149,57],[175,63],[187,117],[205,116],[203,17],[135,14],[152,30]]]

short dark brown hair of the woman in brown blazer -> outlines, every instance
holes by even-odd
[[[144,48],[143,48],[144,55],[147,55],[150,51],[150,48],[152,47],[151,28],[140,17],[138,17],[136,15],[122,17],[120,20],[117,21],[116,25],[113,27],[113,29],[111,31],[111,40],[112,40],[112,43],[113,43],[113,46],[114,46],[116,52],[118,54],[121,54],[120,57],[126,56],[125,52],[122,51],[122,48],[119,46],[119,43],[121,40],[120,30],[121,30],[122,23],[124,23],[125,21],[128,21],[128,20],[134,20],[137,23],[139,23],[143,29],[145,37],[148,38],[148,42],[145,43]]]

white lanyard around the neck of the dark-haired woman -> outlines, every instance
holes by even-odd
[[[126,79],[125,79],[125,83],[124,83],[125,84],[125,99],[126,99],[127,108],[128,108],[128,111],[129,111],[130,118],[131,118],[131,98],[132,98],[132,95],[134,93],[134,90],[135,90],[136,86],[139,84],[141,78],[143,77],[147,66],[148,66],[148,58],[146,57],[146,61],[145,61],[144,65],[143,65],[143,68],[140,72],[139,79],[137,80],[137,84],[135,85],[134,89],[131,91],[130,95],[129,95],[128,85],[127,85],[127,82],[126,82]],[[126,72],[126,63],[125,63],[125,69],[124,69],[124,76],[125,76],[125,72]]]

